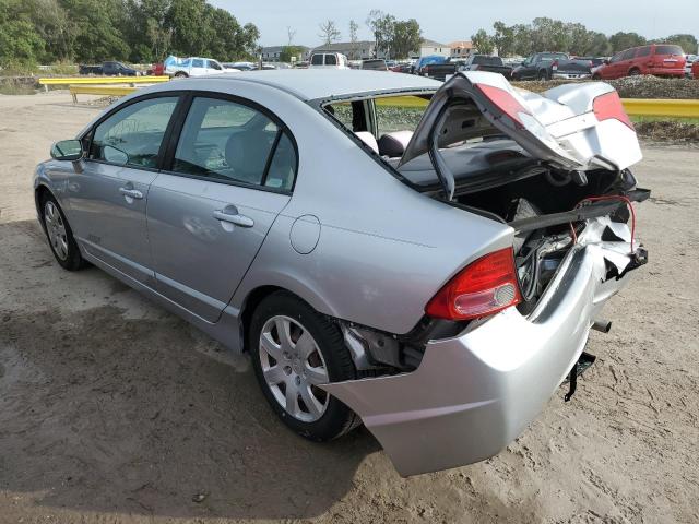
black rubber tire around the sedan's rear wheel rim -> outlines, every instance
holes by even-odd
[[[329,398],[325,410],[315,421],[295,418],[274,396],[262,370],[260,336],[265,323],[280,315],[293,319],[310,333],[322,355],[330,382],[353,380],[357,377],[352,355],[344,344],[340,329],[294,295],[286,291],[274,293],[264,298],[254,310],[249,331],[250,356],[254,374],[270,406],[288,428],[316,442],[336,439],[350,432],[362,420],[346,405],[327,393]]]

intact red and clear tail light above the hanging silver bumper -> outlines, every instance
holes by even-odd
[[[429,317],[469,320],[485,317],[522,300],[512,248],[479,258],[449,281],[427,303]]]

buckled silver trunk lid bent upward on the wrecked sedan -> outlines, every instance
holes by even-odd
[[[606,104],[596,104],[604,95]],[[641,159],[636,132],[612,86],[564,85],[538,95],[516,90],[500,74],[476,71],[454,74],[433,96],[399,171],[429,154],[451,198],[453,176],[439,150],[474,136],[502,134],[533,158],[570,171],[625,169]]]

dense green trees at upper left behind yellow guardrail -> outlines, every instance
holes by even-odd
[[[205,0],[0,0],[0,66],[249,58],[258,28]]]

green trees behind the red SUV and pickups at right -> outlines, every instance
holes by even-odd
[[[671,35],[656,40],[649,40],[637,33],[618,32],[607,36],[590,31],[583,24],[547,17],[534,19],[531,24],[516,25],[498,21],[493,24],[490,33],[478,29],[471,40],[478,52],[491,55],[497,49],[501,57],[526,57],[538,51],[606,57],[630,47],[655,43],[676,44],[686,53],[697,52],[697,38],[694,35]]]

